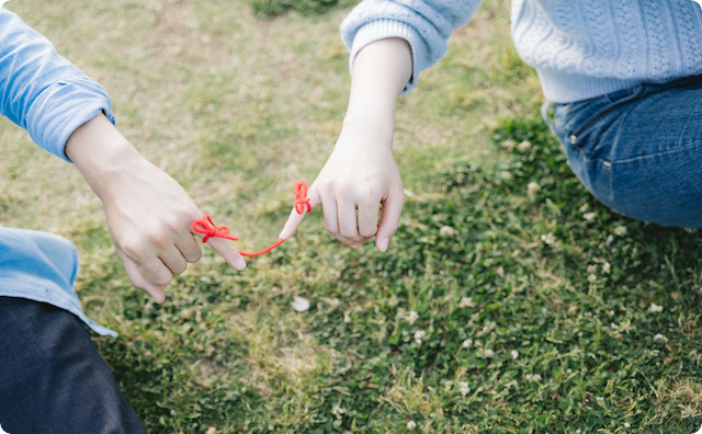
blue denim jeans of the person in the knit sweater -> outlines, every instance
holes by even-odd
[[[553,108],[568,164],[600,202],[638,220],[702,227],[702,76]]]

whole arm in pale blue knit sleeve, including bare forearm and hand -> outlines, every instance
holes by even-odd
[[[322,205],[325,226],[341,242],[355,248],[375,237],[376,248],[387,249],[405,201],[392,153],[397,98],[445,54],[453,30],[479,3],[366,0],[341,24],[351,53],[349,106],[336,147],[308,193],[313,206]],[[303,217],[292,212],[281,238],[292,236]]]

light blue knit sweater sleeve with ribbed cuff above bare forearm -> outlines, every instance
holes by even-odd
[[[355,55],[367,44],[400,37],[412,50],[412,77],[403,93],[417,83],[419,72],[446,54],[446,41],[453,31],[465,25],[482,0],[365,0],[341,23],[341,39]]]

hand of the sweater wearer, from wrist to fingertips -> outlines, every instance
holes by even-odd
[[[388,140],[392,133],[344,128],[307,192],[313,207],[322,205],[327,231],[352,248],[375,237],[384,252],[397,230],[405,195]],[[293,209],[280,238],[290,238],[304,216]]]

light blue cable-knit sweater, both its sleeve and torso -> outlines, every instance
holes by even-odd
[[[341,24],[351,67],[365,45],[403,37],[412,47],[407,92],[479,3],[365,0]],[[702,7],[694,0],[512,0],[510,31],[553,102],[702,73]]]

